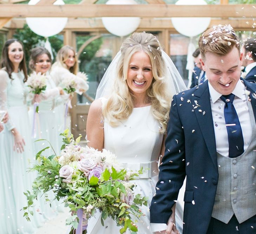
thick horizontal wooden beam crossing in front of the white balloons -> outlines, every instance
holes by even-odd
[[[200,9],[200,11],[198,11]],[[250,4],[239,5],[25,5],[1,4],[2,17],[256,17]]]

